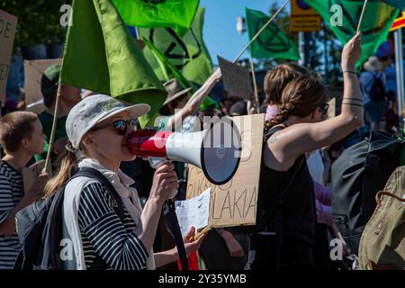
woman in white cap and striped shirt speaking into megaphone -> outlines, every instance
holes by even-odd
[[[65,186],[63,236],[72,243],[73,257],[63,257],[65,269],[155,269],[178,259],[175,248],[153,253],[163,203],[178,187],[173,164],[157,167],[148,202],[141,208],[133,180],[119,169],[134,156],[126,148],[136,119],[147,104],[125,106],[107,95],[91,95],[67,116],[67,155],[49,180],[45,196]],[[78,171],[79,176],[74,176]],[[82,176],[86,171],[92,176]],[[60,191],[60,189],[58,190]],[[184,238],[187,253],[202,237],[194,229]]]

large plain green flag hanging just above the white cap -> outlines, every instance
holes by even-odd
[[[73,1],[60,83],[109,94],[128,103],[148,103],[142,127],[166,99],[157,79],[110,0]]]

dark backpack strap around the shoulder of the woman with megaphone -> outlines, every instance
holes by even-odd
[[[76,174],[70,178],[70,180],[74,179],[76,177],[80,177],[80,176],[95,179],[95,180],[99,181],[101,184],[103,184],[103,186],[107,189],[107,192],[110,193],[110,195],[112,196],[112,199],[114,199],[115,202],[117,202],[118,207],[113,207],[113,210],[118,214],[118,217],[120,217],[120,220],[123,224],[124,223],[123,203],[122,203],[120,195],[117,193],[115,188],[112,186],[111,182],[108,181],[108,179],[105,178],[105,176],[100,171],[98,171],[94,168],[87,168],[87,167],[80,168],[76,172]],[[100,257],[97,253],[95,253],[93,264],[92,264],[92,266],[89,267],[88,270],[105,270],[109,267],[110,266],[108,266],[105,263],[103,258]]]

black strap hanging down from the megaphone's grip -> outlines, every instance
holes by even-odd
[[[180,226],[178,225],[177,216],[175,215],[175,201],[167,200],[167,205],[169,207],[169,211],[166,215],[167,224],[170,226],[169,229],[172,230],[172,233],[175,236],[175,247],[177,247],[182,270],[189,270],[182,232],[180,230]]]

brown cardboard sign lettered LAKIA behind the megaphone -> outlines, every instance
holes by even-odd
[[[187,199],[211,187],[208,228],[254,225],[262,160],[264,114],[233,117],[242,139],[238,171],[223,185],[211,184],[202,170],[189,166]]]

